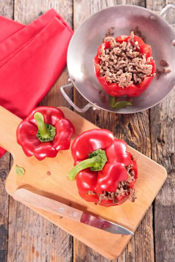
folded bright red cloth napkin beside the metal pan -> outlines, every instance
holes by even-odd
[[[73,31],[54,9],[27,26],[0,16],[0,26],[0,105],[25,118],[66,66]]]

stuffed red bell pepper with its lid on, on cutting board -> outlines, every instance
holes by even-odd
[[[68,173],[77,182],[79,195],[103,206],[120,205],[136,198],[137,163],[127,144],[106,129],[92,129],[73,141],[75,166]]]

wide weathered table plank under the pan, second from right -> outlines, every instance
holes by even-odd
[[[145,7],[145,1],[78,1],[74,2],[74,30],[87,17],[101,8],[114,4],[135,4]],[[74,90],[74,102],[79,107],[87,104],[79,93]],[[116,137],[124,139],[130,146],[139,150],[143,154],[151,157],[151,144],[149,132],[149,111],[132,115],[120,115],[104,112],[102,110],[94,112],[88,110],[83,116],[101,128],[111,130]],[[139,200],[137,200],[139,201]],[[152,228],[152,206],[139,225],[135,236],[131,239],[123,254],[118,258],[121,261],[154,261],[153,250],[153,228]],[[98,261],[107,262],[108,260],[87,248],[81,242],[74,239],[74,262],[78,261]],[[82,259],[82,260],[81,260]]]

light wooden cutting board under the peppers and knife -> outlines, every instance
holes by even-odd
[[[72,141],[83,131],[97,128],[68,108],[60,107],[60,109],[75,126],[76,135],[72,137]],[[134,203],[126,201],[121,206],[110,208],[95,206],[79,196],[75,181],[71,182],[66,178],[68,171],[73,167],[70,149],[60,151],[54,159],[46,158],[43,161],[38,161],[34,156],[25,156],[21,146],[16,142],[16,129],[20,121],[20,118],[0,106],[0,146],[12,153],[14,158],[6,180],[6,190],[9,195],[19,188],[25,188],[118,223],[135,232],[165,182],[167,177],[165,168],[128,146],[128,151],[134,155],[138,164],[137,200]],[[25,169],[24,176],[16,174],[15,165]],[[108,259],[117,258],[131,238],[131,236],[111,234],[66,218],[59,219],[57,215],[30,206],[30,199],[24,204]]]

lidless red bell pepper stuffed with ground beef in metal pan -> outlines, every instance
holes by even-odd
[[[94,58],[96,77],[111,96],[138,96],[151,84],[156,65],[151,46],[130,36],[106,37]]]

